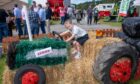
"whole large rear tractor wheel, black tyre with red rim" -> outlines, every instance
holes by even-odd
[[[102,48],[96,57],[93,73],[103,84],[124,84],[134,77],[138,62],[136,49],[124,42]]]

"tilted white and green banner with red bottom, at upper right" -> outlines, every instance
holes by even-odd
[[[127,11],[129,9],[131,0],[122,0],[119,10],[119,16],[127,16]]]

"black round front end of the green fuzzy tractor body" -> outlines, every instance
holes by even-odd
[[[19,42],[12,42],[8,45],[6,63],[9,69],[13,69],[15,65],[16,45]]]

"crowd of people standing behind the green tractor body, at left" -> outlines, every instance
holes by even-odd
[[[37,5],[36,2],[33,1],[33,5],[30,6],[27,11],[31,33],[33,35],[38,35],[39,30],[41,30],[43,34],[50,33],[52,10],[49,7],[49,3],[46,3],[46,7],[42,7],[41,4]],[[19,8],[18,4],[14,5],[12,11],[0,9],[0,42],[2,42],[3,37],[13,35],[12,29],[14,26],[19,38],[21,38],[21,36],[28,36],[25,10],[24,8]]]

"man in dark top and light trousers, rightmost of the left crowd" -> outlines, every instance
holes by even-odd
[[[49,3],[46,3],[46,27],[47,27],[47,33],[50,33],[51,16],[52,16],[52,9],[49,7]]]

